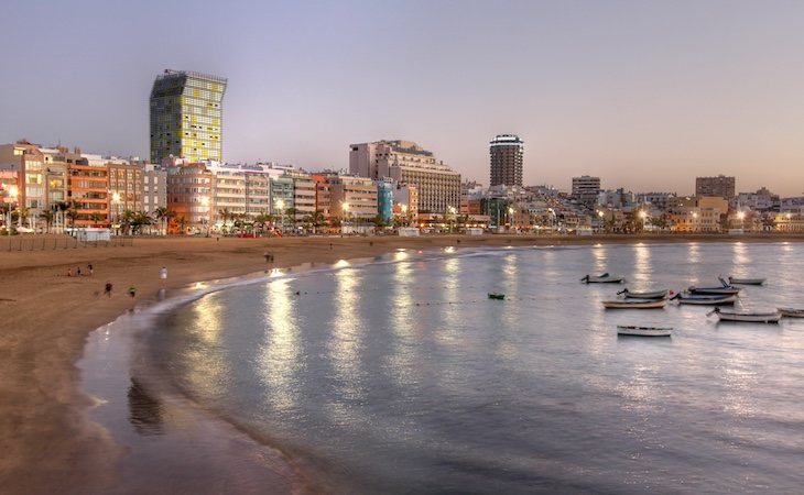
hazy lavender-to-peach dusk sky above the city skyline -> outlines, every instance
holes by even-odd
[[[165,68],[228,78],[224,160],[348,167],[415,141],[488,184],[804,194],[801,1],[37,1],[0,15],[0,143],[148,156]]]

